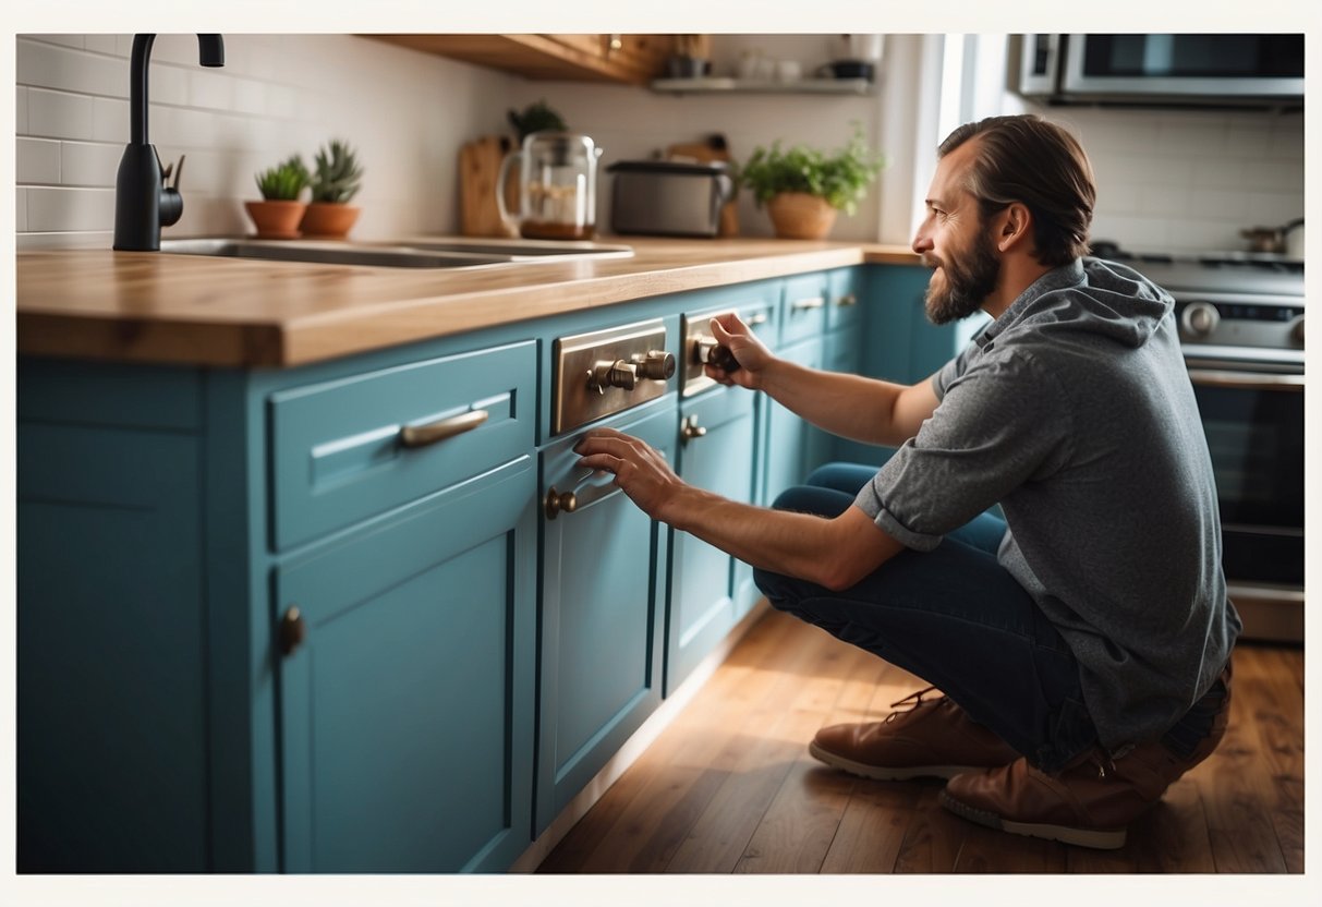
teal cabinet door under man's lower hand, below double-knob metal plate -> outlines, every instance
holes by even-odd
[[[603,424],[673,463],[674,395],[640,409]],[[661,702],[668,532],[613,476],[575,467],[579,436],[542,452],[543,501],[554,489],[574,509],[543,514],[537,834]]]

